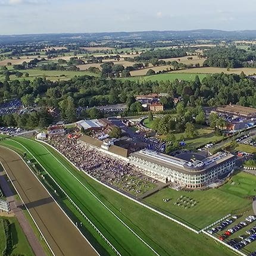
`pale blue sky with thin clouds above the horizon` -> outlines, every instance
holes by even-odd
[[[255,0],[0,0],[0,35],[256,29]]]

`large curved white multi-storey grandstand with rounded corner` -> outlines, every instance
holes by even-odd
[[[161,182],[172,182],[189,189],[210,185],[226,176],[235,166],[235,156],[218,152],[202,161],[186,161],[177,157],[143,149],[130,155],[130,163]]]

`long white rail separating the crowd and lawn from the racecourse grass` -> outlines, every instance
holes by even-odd
[[[26,139],[26,138],[24,138],[24,139]],[[62,157],[64,157],[65,160],[68,161],[68,163],[70,163],[74,168],[76,168],[76,170],[81,171],[81,170],[80,170],[79,168],[77,168],[70,160],[68,160],[67,157],[65,157],[60,151],[58,151],[58,149],[55,149],[54,146],[49,145],[49,143],[47,143],[47,142],[39,141],[38,139],[36,139],[36,141],[41,142],[41,143],[45,143],[47,146],[50,146],[52,149],[54,149],[55,151],[57,151]],[[47,149],[47,150],[48,150],[48,149]],[[49,152],[49,151],[48,151],[48,152]],[[82,171],[83,171],[83,170],[82,170]],[[128,195],[125,195],[124,193],[118,191],[117,189],[111,188],[111,186],[108,186],[107,184],[101,182],[100,180],[95,179],[95,177],[90,176],[90,174],[86,173],[86,171],[83,171],[83,173],[85,173],[87,176],[89,176],[91,179],[95,180],[96,182],[100,183],[101,185],[105,186],[106,188],[111,189],[111,190],[114,191],[114,192],[117,192],[118,194],[120,194],[120,195],[122,195],[122,196],[124,196],[124,197],[126,197],[126,198],[128,198],[128,199],[130,199],[130,200],[132,200],[133,202],[136,202],[136,204],[139,204],[139,205],[141,205],[141,206],[143,206],[143,207],[145,207],[145,208],[148,208],[149,210],[154,211],[155,213],[160,214],[161,216],[166,217],[166,218],[168,218],[169,220],[172,220],[172,221],[176,222],[177,224],[180,224],[180,225],[183,226],[183,227],[186,227],[186,229],[189,229],[189,230],[191,230],[192,232],[195,232],[196,234],[201,233],[200,230],[199,230],[199,231],[198,231],[198,230],[195,230],[195,229],[193,229],[192,227],[189,227],[189,226],[187,226],[186,224],[182,223],[181,221],[176,220],[175,218],[172,218],[172,217],[170,217],[170,216],[168,216],[168,215],[166,215],[166,214],[164,214],[164,213],[161,213],[161,211],[155,210],[154,208],[149,207],[148,205],[143,204],[142,202],[139,202],[139,201],[137,201],[136,199],[133,199],[132,197],[130,197],[130,196],[128,196]]]

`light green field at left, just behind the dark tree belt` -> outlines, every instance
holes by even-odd
[[[10,80],[33,80],[36,77],[45,77],[46,79],[68,80],[75,76],[98,76],[88,71],[58,71],[58,70],[20,70],[21,73],[29,73],[29,77],[16,77],[14,74],[10,76]],[[5,76],[0,74],[0,81],[4,81]]]

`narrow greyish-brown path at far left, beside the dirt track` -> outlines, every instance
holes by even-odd
[[[17,220],[20,223],[20,226],[23,229],[23,232],[26,235],[27,241],[29,241],[33,252],[36,256],[45,256],[45,252],[43,251],[43,248],[40,245],[38,238],[36,238],[36,235],[33,232],[29,221],[24,216],[23,211],[21,210],[21,203],[16,201],[13,191],[11,191],[10,186],[7,183],[6,174],[4,173],[4,171],[0,172],[0,186],[8,202],[10,202],[11,213],[14,213],[15,217],[17,217]]]

